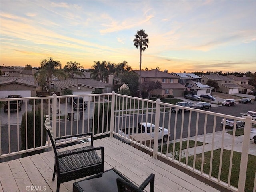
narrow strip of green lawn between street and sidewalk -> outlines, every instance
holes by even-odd
[[[182,150],[187,148],[187,143],[188,143],[187,140],[182,141],[182,144],[181,144],[181,149]],[[205,143],[205,144],[208,144],[208,143]],[[196,146],[201,146],[201,145],[203,145],[202,142],[200,142],[200,141],[196,142]],[[194,147],[194,146],[195,146],[195,141],[194,140],[189,140],[188,148],[191,148],[191,147]],[[173,143],[170,143],[169,144],[169,148],[168,148],[168,152],[172,152],[172,148],[173,148]],[[163,145],[163,152],[162,153],[166,154],[166,150],[167,150],[167,144],[164,144]],[[180,142],[176,142],[175,143],[175,149],[174,150],[175,151],[180,150]],[[160,146],[158,148],[158,151],[159,152],[161,151]]]

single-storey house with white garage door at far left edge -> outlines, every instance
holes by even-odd
[[[34,77],[3,77],[0,78],[0,97],[8,95],[22,95],[23,97],[36,97],[38,84]]]

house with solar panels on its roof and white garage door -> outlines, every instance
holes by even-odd
[[[204,85],[202,83],[196,82],[196,81],[186,81],[185,87],[187,87],[188,91],[190,91],[191,94],[194,95],[211,95],[212,90],[214,87]]]

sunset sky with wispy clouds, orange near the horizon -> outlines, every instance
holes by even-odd
[[[256,1],[0,1],[1,63],[127,61],[142,69],[256,71]]]

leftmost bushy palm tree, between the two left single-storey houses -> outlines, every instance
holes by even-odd
[[[51,93],[50,84],[52,83],[53,75],[58,79],[66,79],[68,76],[62,71],[60,61],[54,61],[51,57],[48,60],[42,60],[40,70],[34,74],[38,84],[48,87],[49,95]]]

